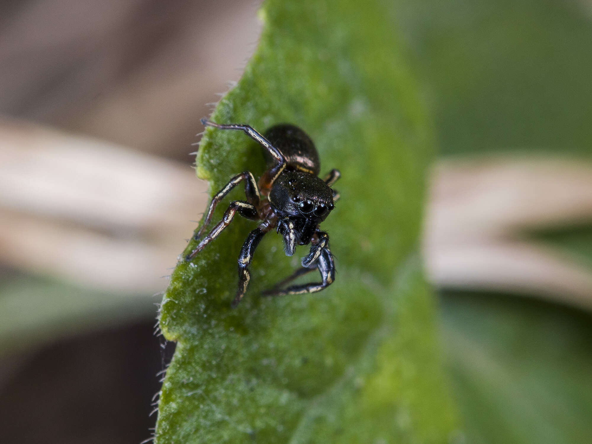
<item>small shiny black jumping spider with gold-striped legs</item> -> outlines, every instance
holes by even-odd
[[[293,125],[276,125],[262,136],[248,125],[220,125],[205,119],[202,119],[201,123],[222,130],[244,131],[263,147],[268,169],[259,179],[259,186],[253,174],[245,171],[234,176],[218,191],[205,214],[204,224],[194,236],[195,240],[201,239],[201,242],[185,260],[195,258],[229,226],[234,214],[238,213],[250,220],[260,220],[261,223],[249,233],[240,250],[239,289],[232,301],[232,307],[236,307],[247,290],[250,280],[249,265],[256,247],[263,236],[274,228],[284,237],[284,251],[287,256],[294,255],[297,244],[311,244],[311,247],[308,255],[301,260],[302,267],[274,288],[264,291],[263,295],[313,293],[332,284],[335,266],[329,250],[329,236],[318,226],[333,210],[334,202],[339,199],[339,194],[331,188],[341,176],[339,170],[333,169],[324,179],[319,178],[320,160],[313,141],[303,130]],[[204,236],[216,205],[242,181],[247,200],[232,202],[222,220]],[[282,289],[298,276],[315,269],[320,272],[322,282],[292,285]]]

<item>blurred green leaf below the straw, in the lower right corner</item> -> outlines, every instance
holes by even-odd
[[[468,292],[446,292],[442,305],[469,442],[592,442],[590,314]]]

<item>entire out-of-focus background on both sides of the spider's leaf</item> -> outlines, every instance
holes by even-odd
[[[592,3],[402,0],[439,156],[423,252],[471,442],[592,442]],[[257,2],[0,3],[0,440],[137,443]],[[116,400],[115,403],[113,400]]]

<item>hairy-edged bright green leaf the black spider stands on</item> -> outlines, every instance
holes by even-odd
[[[342,198],[323,224],[336,282],[319,294],[261,298],[306,252],[287,258],[270,233],[231,310],[237,255],[255,227],[244,220],[180,262],[160,316],[178,344],[158,443],[436,443],[455,431],[417,259],[430,131],[387,12],[379,1],[264,5],[258,50],[212,119],[261,131],[296,124],[315,141],[323,171],[341,170]],[[198,175],[211,193],[264,168],[244,134],[205,132]]]

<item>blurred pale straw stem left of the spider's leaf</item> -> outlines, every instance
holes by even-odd
[[[207,200],[187,165],[0,121],[0,260],[112,292],[152,294]]]

